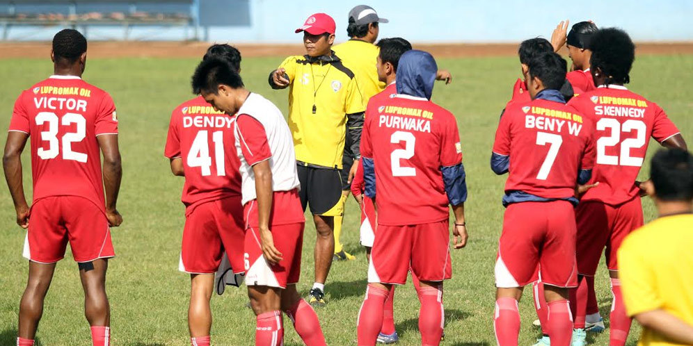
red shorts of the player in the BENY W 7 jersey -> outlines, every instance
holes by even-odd
[[[497,288],[523,287],[539,279],[550,286],[576,287],[575,211],[568,201],[508,206],[495,263]]]

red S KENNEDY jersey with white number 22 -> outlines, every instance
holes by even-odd
[[[623,86],[600,86],[568,105],[596,126],[597,160],[590,182],[599,185],[587,191],[583,201],[615,206],[633,199],[650,137],[664,142],[679,133],[660,106]]]

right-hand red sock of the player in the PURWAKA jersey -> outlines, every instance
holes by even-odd
[[[421,345],[439,345],[443,336],[445,310],[443,309],[443,285],[421,286],[419,290],[419,331]]]

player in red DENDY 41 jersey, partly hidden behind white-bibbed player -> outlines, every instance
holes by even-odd
[[[241,53],[214,44],[203,60],[220,58],[240,70]],[[245,237],[240,162],[234,143],[234,115],[215,110],[198,96],[173,110],[164,154],[171,172],[185,177],[182,201],[186,220],[180,271],[190,274],[188,327],[194,346],[209,345],[209,299],[214,273],[228,254],[234,274],[242,274]]]

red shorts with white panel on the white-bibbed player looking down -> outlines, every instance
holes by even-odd
[[[246,229],[246,285],[286,288],[298,282],[304,225],[305,222],[297,222],[270,226],[274,247],[282,254],[282,260],[276,265],[269,265],[264,258],[257,227]]]

